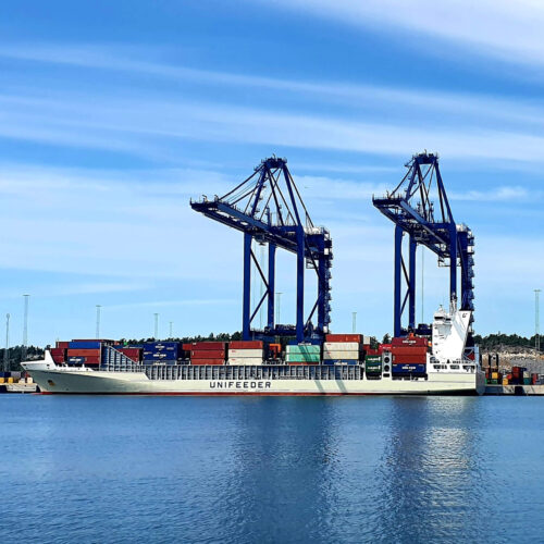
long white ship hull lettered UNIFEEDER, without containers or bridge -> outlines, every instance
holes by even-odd
[[[102,395],[479,395],[482,372],[431,373],[418,380],[150,380],[145,372],[41,369],[27,364],[45,394]]]

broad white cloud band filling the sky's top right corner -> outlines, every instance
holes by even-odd
[[[516,63],[544,63],[539,0],[263,0],[348,25],[403,29]]]

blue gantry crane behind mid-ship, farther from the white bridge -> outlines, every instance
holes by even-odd
[[[234,189],[213,200],[203,197],[190,201],[195,211],[244,233],[244,301],[243,338],[294,336],[298,342],[322,337],[331,322],[332,239],[329,231],[314,226],[287,169],[287,161],[271,157],[264,159],[254,173]],[[252,240],[268,245],[267,274],[251,248]],[[297,256],[296,325],[275,323],[275,252],[285,249]],[[251,308],[251,265],[264,284],[264,292]],[[316,271],[318,297],[305,318],[305,269]],[[260,308],[268,302],[267,326],[252,330],[251,323]],[[317,326],[312,318],[317,312]]]

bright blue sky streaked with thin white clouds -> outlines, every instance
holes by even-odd
[[[94,337],[96,305],[102,337],[152,336],[153,313],[160,337],[170,322],[175,336],[240,330],[243,236],[189,200],[227,193],[272,154],[331,231],[331,329],[350,332],[357,312],[358,332],[381,338],[393,329],[393,224],[372,195],[424,150],[440,154],[454,217],[475,236],[475,332],[532,335],[544,287],[543,26],[532,0],[7,3],[10,344],[22,342],[24,294],[35,345]],[[417,318],[430,322],[447,304],[447,270],[418,257]],[[280,320],[294,323],[295,259],[277,260]]]

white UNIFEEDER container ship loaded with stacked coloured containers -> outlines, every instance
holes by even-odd
[[[58,342],[25,361],[44,394],[478,395],[485,390],[470,311],[438,309],[431,334],[327,334],[324,342]]]

